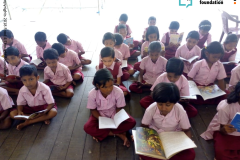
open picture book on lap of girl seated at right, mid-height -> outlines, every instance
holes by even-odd
[[[212,99],[226,94],[216,84],[212,86],[197,86],[193,81],[188,81],[188,84],[190,95],[200,95],[204,100]]]

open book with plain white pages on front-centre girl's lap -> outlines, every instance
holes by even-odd
[[[129,116],[124,109],[121,109],[118,113],[116,113],[113,119],[107,117],[99,117],[99,129],[116,129],[123,121],[128,118]]]

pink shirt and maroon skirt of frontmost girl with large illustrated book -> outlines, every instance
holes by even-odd
[[[149,128],[156,130],[158,133],[178,132],[191,128],[186,111],[178,103],[173,106],[172,110],[166,116],[161,115],[156,102],[152,103],[144,113],[142,124],[148,125]],[[144,160],[156,160],[155,158],[146,156],[140,157]],[[170,160],[194,160],[194,158],[194,150],[188,149],[176,154]]]

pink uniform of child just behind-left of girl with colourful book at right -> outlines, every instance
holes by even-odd
[[[184,44],[183,46],[179,47],[176,51],[175,57],[182,57],[185,59],[192,58],[194,56],[199,56],[199,59],[201,57],[201,50],[200,48],[195,45],[190,51],[187,48],[187,45]],[[192,69],[193,63],[189,64],[188,62],[184,62],[184,69],[183,69],[183,75],[186,76],[188,72]]]

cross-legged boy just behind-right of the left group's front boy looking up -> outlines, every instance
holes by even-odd
[[[49,48],[43,53],[43,58],[47,64],[44,69],[44,81],[54,96],[71,98],[74,95],[72,86],[72,75],[67,66],[58,62],[58,52]]]

